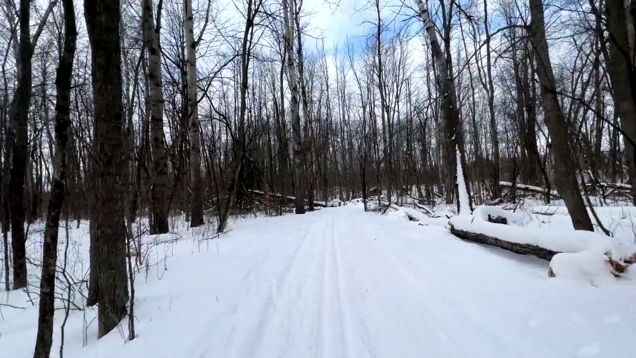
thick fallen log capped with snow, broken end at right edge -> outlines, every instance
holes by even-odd
[[[533,255],[550,261],[550,276],[578,277],[599,282],[623,276],[636,262],[636,245],[591,231],[495,224],[489,220],[515,218],[498,206],[480,206],[472,216],[452,217],[450,231],[462,240]]]

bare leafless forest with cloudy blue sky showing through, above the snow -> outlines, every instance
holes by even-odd
[[[39,287],[34,357],[69,222],[100,337],[133,316],[140,220],[534,195],[609,234],[594,207],[636,203],[635,24],[624,0],[3,0],[2,280]]]

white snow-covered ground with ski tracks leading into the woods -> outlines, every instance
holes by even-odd
[[[156,241],[137,274],[138,337],[125,341],[123,324],[97,341],[96,311],[72,311],[64,356],[633,357],[635,282],[548,278],[548,262],[361,204],[231,229]],[[0,306],[2,356],[31,357],[37,306],[0,299],[25,308]]]

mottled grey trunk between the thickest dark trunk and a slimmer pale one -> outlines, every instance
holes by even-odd
[[[151,234],[168,232],[167,182],[168,168],[163,149],[163,82],[161,68],[161,50],[159,48],[159,29],[155,28],[153,1],[144,0],[142,4],[144,23],[144,42],[148,50],[148,81],[150,97],[150,136],[153,154],[153,174],[151,192]]]

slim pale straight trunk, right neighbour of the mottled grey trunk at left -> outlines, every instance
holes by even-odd
[[[185,0],[183,6],[186,18],[186,47],[188,48],[188,115],[190,118],[190,180],[192,190],[190,226],[197,227],[204,224],[201,197],[201,138],[197,103],[197,43],[194,35],[192,0]]]

